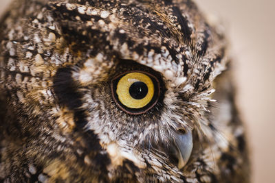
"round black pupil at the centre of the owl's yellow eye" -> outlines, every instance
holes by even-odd
[[[134,82],[130,86],[129,93],[134,99],[143,99],[148,93],[148,87],[144,82]]]

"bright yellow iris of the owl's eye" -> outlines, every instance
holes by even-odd
[[[142,88],[147,91],[147,93],[145,93],[146,95],[143,93],[144,97],[142,97],[142,99],[135,99],[133,95],[131,95],[132,93],[130,93],[130,89],[133,84],[142,84],[142,87],[136,87],[135,91],[142,92]],[[118,95],[120,102],[127,108],[143,108],[153,98],[154,84],[151,78],[143,73],[128,73],[118,82],[116,94]]]

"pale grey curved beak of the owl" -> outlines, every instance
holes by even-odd
[[[184,165],[188,162],[190,155],[192,153],[193,141],[192,132],[186,132],[185,134],[177,134],[175,136],[175,144],[177,146],[177,158],[179,169],[182,169]]]

